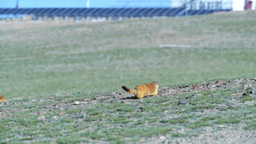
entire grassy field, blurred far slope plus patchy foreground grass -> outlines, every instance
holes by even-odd
[[[189,105],[177,103],[194,93],[71,104],[119,94],[122,85],[256,77],[255,15],[0,22],[0,93],[8,99],[0,105],[0,143],[150,142],[159,135],[172,141],[209,127],[255,134],[255,103],[247,103],[255,96],[230,101],[241,88],[201,92]]]

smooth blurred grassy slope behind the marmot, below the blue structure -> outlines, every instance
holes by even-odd
[[[0,23],[6,97],[119,91],[255,76],[255,13],[108,21]],[[191,48],[158,48],[189,44]]]

